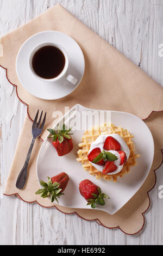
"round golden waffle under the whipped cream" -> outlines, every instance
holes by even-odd
[[[130,149],[130,156],[127,162],[124,163],[122,170],[119,173],[112,175],[103,174],[102,172],[99,172],[99,170],[93,167],[91,162],[87,159],[91,143],[95,141],[99,135],[110,133],[116,133],[120,135]],[[127,129],[123,129],[121,126],[116,127],[114,126],[114,124],[111,123],[105,123],[103,126],[92,127],[91,130],[84,132],[84,135],[82,137],[82,143],[79,143],[79,147],[81,149],[78,150],[77,161],[82,162],[83,169],[88,171],[91,175],[95,175],[96,179],[104,178],[105,180],[113,180],[114,182],[116,182],[118,176],[122,177],[124,174],[130,171],[130,167],[136,165],[136,158],[140,156],[135,155],[135,146],[132,141],[132,138],[134,138],[134,136],[131,135]]]

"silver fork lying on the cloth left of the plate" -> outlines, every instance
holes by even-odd
[[[43,113],[43,111],[41,112],[38,123],[37,123],[37,118],[38,118],[38,115],[39,115],[39,110],[36,113],[36,116],[35,116],[35,119],[34,119],[34,122],[33,122],[33,126],[32,126],[32,135],[33,135],[32,143],[30,144],[30,148],[29,148],[24,166],[23,166],[20,174],[18,175],[18,178],[17,178],[17,181],[16,181],[16,187],[20,190],[26,184],[27,172],[28,172],[28,163],[29,163],[30,155],[32,153],[33,145],[35,143],[35,139],[41,135],[41,132],[43,130],[43,126],[45,125],[46,113],[43,117],[43,121],[42,121],[42,124],[41,124],[42,113]]]

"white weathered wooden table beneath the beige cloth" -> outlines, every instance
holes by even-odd
[[[158,54],[163,43],[162,0],[0,0],[0,36],[58,2],[163,86],[163,57]],[[150,192],[152,203],[145,214],[145,227],[134,236],[4,197],[4,183],[26,113],[26,106],[18,101],[0,68],[0,245],[163,244],[163,199],[158,197],[163,167],[157,171],[158,181]]]

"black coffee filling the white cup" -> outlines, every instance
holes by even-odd
[[[64,69],[65,56],[55,46],[43,46],[35,52],[32,66],[37,76],[44,79],[53,79],[59,76]]]

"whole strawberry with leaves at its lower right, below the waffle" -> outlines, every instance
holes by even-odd
[[[96,204],[105,205],[104,198],[109,198],[101,192],[101,188],[93,184],[90,180],[83,180],[79,184],[80,194],[87,200],[87,205],[96,208]]]

